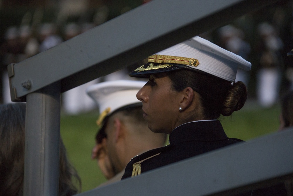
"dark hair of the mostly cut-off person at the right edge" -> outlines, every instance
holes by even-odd
[[[293,91],[289,91],[281,100],[282,118],[284,127],[293,126]]]

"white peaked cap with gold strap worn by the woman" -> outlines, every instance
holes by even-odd
[[[251,63],[241,56],[227,51],[199,36],[149,56],[148,62],[146,65],[130,73],[130,76],[145,77],[149,74],[171,71],[178,66],[177,68],[185,67],[194,71],[199,70],[234,82],[238,68],[246,71],[251,69]],[[159,63],[160,65],[151,65],[152,63]],[[169,67],[166,67],[168,63],[171,64]],[[163,64],[165,66],[161,66]]]

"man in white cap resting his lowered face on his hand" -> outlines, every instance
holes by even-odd
[[[166,142],[166,134],[151,132],[142,116],[142,103],[137,100],[136,93],[145,83],[108,81],[86,90],[100,110],[92,158],[98,160],[101,171],[110,179],[106,184],[121,180],[133,156],[162,147]]]

